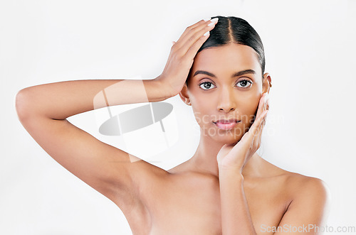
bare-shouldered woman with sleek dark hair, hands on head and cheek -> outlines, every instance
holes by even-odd
[[[16,110],[52,158],[120,207],[133,234],[318,234],[328,209],[324,182],[256,153],[271,87],[264,67],[256,31],[241,18],[216,16],[187,27],[153,80],[41,84],[17,94]],[[192,106],[201,138],[192,158],[170,170],[66,120],[177,94]]]

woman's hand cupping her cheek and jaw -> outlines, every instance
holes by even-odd
[[[256,120],[250,129],[244,133],[241,140],[234,144],[225,144],[216,156],[219,170],[239,170],[242,173],[245,164],[261,146],[261,133],[266,124],[268,112],[268,93],[261,96],[258,104]]]

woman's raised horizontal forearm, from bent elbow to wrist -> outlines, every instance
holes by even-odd
[[[167,98],[168,92],[157,80],[75,80],[22,89],[16,95],[16,109],[23,119],[33,114],[66,119],[105,106]]]

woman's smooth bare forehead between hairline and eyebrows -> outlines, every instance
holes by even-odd
[[[201,69],[216,73],[246,69],[255,70],[257,74],[262,72],[256,51],[236,43],[201,50],[194,58],[192,70]]]

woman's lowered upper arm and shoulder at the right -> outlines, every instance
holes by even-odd
[[[330,192],[323,180],[305,177],[275,234],[319,234],[328,217]]]

